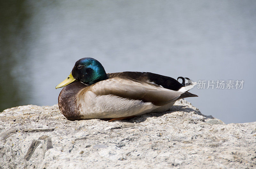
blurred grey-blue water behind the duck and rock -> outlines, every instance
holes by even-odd
[[[55,86],[76,60],[107,73],[153,72],[244,80],[243,89],[197,89],[188,98],[225,123],[256,121],[256,1],[0,1],[0,112],[57,104]]]

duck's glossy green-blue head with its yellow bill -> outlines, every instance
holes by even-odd
[[[75,81],[81,81],[84,84],[92,85],[98,81],[106,79],[108,79],[108,76],[104,67],[98,60],[93,58],[82,58],[76,61],[76,64],[68,78],[55,88],[62,88]]]

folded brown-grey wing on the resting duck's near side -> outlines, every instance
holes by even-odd
[[[92,91],[96,95],[116,95],[128,99],[152,102],[157,106],[174,102],[183,94],[183,92],[122,77],[99,81],[90,86],[87,91]]]

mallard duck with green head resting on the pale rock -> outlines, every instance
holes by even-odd
[[[179,78],[182,83],[149,72],[107,74],[98,60],[82,58],[76,61],[68,78],[55,88],[64,87],[58,102],[61,113],[67,119],[113,121],[149,112],[163,112],[179,99],[197,97],[187,92],[195,83],[185,84],[185,78]],[[188,82],[191,81],[188,79]]]

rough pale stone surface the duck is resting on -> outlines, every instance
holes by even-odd
[[[114,122],[27,105],[0,113],[0,168],[255,168],[255,138],[256,123],[224,124],[185,100]]]

